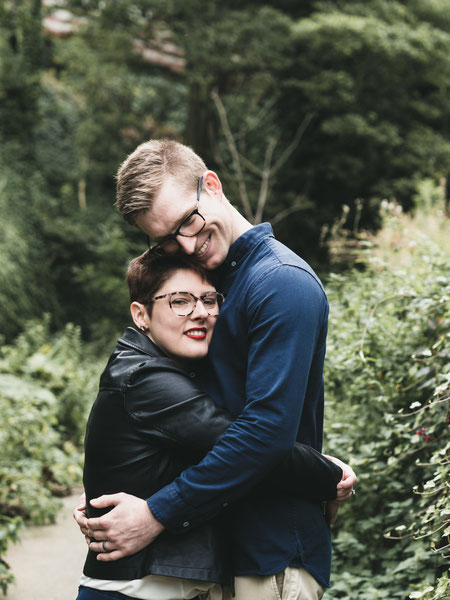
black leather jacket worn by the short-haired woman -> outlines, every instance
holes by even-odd
[[[127,492],[148,498],[199,462],[231,422],[230,415],[196,386],[191,371],[164,355],[145,335],[127,328],[101,375],[87,424],[88,516],[107,512],[89,504],[102,494]],[[277,493],[331,499],[341,475],[341,469],[320,453],[296,444],[261,484],[261,493],[275,488]],[[115,562],[99,562],[89,550],[84,574],[129,580],[153,573],[227,583],[227,555],[220,519],[214,519],[184,535],[164,531],[150,546]]]

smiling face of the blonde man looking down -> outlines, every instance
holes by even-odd
[[[215,269],[225,260],[234,241],[228,206],[222,197],[220,181],[211,171],[203,178],[198,204],[195,190],[186,192],[182,185],[167,178],[152,208],[137,217],[136,225],[153,242],[159,242],[173,234],[197,208],[205,219],[204,228],[193,237],[177,236],[177,242],[182,252],[191,254],[206,269]]]

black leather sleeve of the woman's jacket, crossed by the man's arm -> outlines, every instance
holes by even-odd
[[[232,423],[230,414],[171,359],[140,363],[123,393],[136,431],[149,441],[182,451],[191,461],[201,460]],[[341,476],[341,469],[320,452],[296,442],[261,485],[310,500],[330,500],[336,497]]]

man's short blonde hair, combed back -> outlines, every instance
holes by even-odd
[[[196,189],[205,172],[203,160],[188,146],[173,140],[150,140],[138,146],[117,172],[115,206],[129,223],[151,208],[167,177],[186,191]]]

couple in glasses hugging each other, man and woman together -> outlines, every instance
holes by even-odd
[[[151,242],[87,425],[78,600],[319,600],[356,482],[320,453],[319,279],[177,142],[125,160],[116,204]]]

